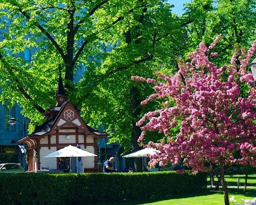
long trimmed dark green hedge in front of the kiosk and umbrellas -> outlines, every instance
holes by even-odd
[[[0,174],[0,204],[90,204],[199,193],[206,174]]]

